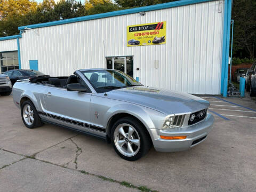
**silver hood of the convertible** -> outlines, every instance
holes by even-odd
[[[126,87],[107,92],[108,98],[131,102],[165,114],[182,114],[199,111],[210,103],[191,94],[148,86]]]

